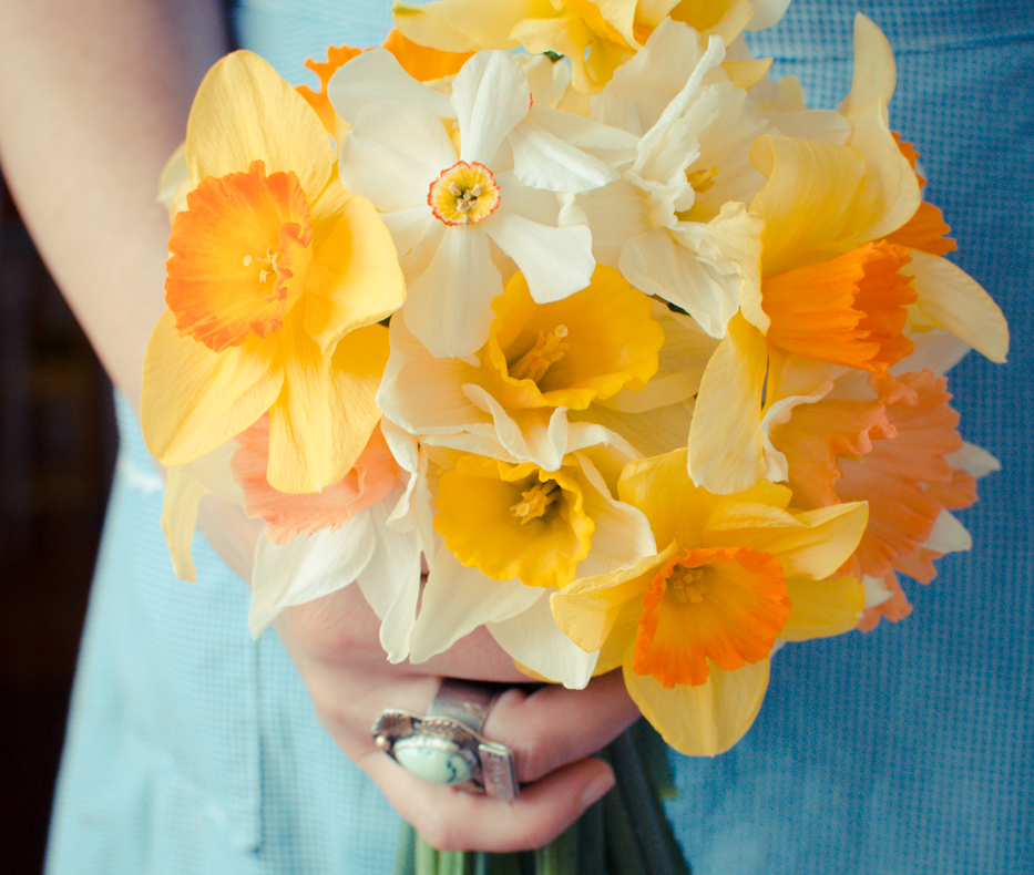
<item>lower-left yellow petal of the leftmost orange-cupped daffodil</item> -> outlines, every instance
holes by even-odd
[[[151,454],[170,467],[209,453],[265,413],[284,374],[276,344],[257,337],[222,353],[178,336],[166,310],[144,357],[141,425]]]

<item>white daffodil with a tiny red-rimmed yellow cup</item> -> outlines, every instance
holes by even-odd
[[[539,302],[588,285],[588,228],[556,227],[555,193],[616,178],[580,146],[622,147],[625,134],[555,110],[533,113],[528,76],[499,51],[468,61],[451,95],[382,51],[342,66],[328,92],[352,124],[341,179],[383,214],[408,285],[406,326],[432,353],[469,356],[484,343],[502,291],[496,249]],[[453,136],[442,120],[454,121]]]

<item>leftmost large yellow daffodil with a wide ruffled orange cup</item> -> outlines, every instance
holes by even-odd
[[[257,55],[205,78],[185,157],[194,188],[144,362],[147,446],[182,465],[268,413],[269,483],[318,492],[380,419],[376,322],[405,298],[390,234],[341,188],[316,112]]]

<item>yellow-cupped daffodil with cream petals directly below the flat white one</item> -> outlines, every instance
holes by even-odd
[[[488,342],[470,359],[437,358],[392,321],[377,397],[388,419],[429,444],[547,471],[569,453],[617,440],[606,429],[639,452],[643,430],[680,428],[675,444],[685,440],[688,414],[672,405],[693,397],[713,349],[686,317],[604,266],[553,303],[535,303],[515,274],[492,310]],[[622,415],[629,405],[636,415]]]

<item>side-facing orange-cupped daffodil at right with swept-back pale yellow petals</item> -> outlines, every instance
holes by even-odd
[[[931,281],[958,268],[939,270],[935,262],[949,262],[890,239],[919,210],[919,181],[888,124],[890,45],[862,16],[854,34],[854,84],[840,109],[851,125],[847,144],[762,136],[751,150],[768,176],[750,205],[765,220],[761,284],[744,288],[689,431],[690,476],[714,492],[786,480],[761,428],[784,357],[884,378],[913,349],[904,330],[912,311],[940,313],[949,297],[966,299],[960,307],[977,327],[963,340],[992,357],[1007,344],[1001,312],[976,284]]]

